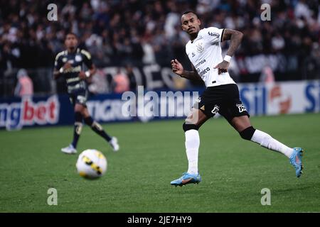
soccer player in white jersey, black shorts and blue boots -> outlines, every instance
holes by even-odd
[[[208,118],[219,113],[240,134],[241,138],[259,143],[263,147],[282,153],[289,158],[294,166],[296,176],[302,175],[302,148],[289,148],[272,138],[269,134],[252,127],[249,114],[240,101],[237,84],[228,73],[231,57],[241,43],[243,34],[231,29],[215,27],[200,28],[201,21],[193,11],[187,11],[181,16],[182,30],[188,33],[190,40],[186,44],[186,54],[192,63],[193,71],[183,70],[178,60],[171,60],[174,73],[180,77],[198,80],[206,84],[206,91],[194,104],[191,113],[183,123],[186,135],[186,155],[188,171],[182,177],[175,179],[171,185],[198,184],[201,176],[198,173],[198,149],[200,138],[198,129]],[[223,58],[220,43],[230,40],[230,47]]]

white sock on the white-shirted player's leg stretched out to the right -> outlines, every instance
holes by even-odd
[[[262,147],[265,147],[269,150],[278,151],[279,153],[286,155],[288,158],[292,155],[293,152],[293,148],[287,147],[283,143],[280,143],[278,140],[274,140],[271,135],[257,129],[255,130],[255,133],[253,133],[251,141],[259,143],[260,145],[262,145]]]

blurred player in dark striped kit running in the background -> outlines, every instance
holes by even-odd
[[[82,121],[92,128],[95,133],[105,138],[112,146],[114,151],[119,150],[117,138],[108,135],[94,121],[87,110],[86,101],[88,96],[86,79],[95,74],[95,65],[92,64],[91,55],[86,50],[81,50],[78,47],[78,38],[74,33],[68,33],[65,36],[65,47],[67,50],[59,52],[55,57],[55,70],[53,76],[55,79],[64,77],[68,87],[70,101],[74,106],[75,125],[73,128],[73,142],[66,148],[62,148],[63,153],[77,153],[77,144],[82,131]],[[83,64],[88,68],[83,71]]]

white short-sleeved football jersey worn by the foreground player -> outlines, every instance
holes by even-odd
[[[220,46],[222,36],[223,29],[203,28],[195,40],[189,40],[186,44],[186,54],[206,87],[235,84],[228,72],[218,74],[218,69],[214,69],[215,65],[223,62]]]

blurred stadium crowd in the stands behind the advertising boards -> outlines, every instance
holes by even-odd
[[[188,62],[181,13],[193,10],[203,26],[242,31],[237,57],[294,56],[320,77],[320,5],[317,0],[87,0],[57,1],[58,21],[48,21],[51,1],[0,0],[0,77],[15,68],[53,67],[72,31],[89,50],[97,67],[146,65],[169,67],[175,57]],[[262,21],[262,3],[271,6],[271,21]],[[223,44],[223,49],[227,44]],[[238,74],[241,73],[238,71]],[[244,72],[242,72],[244,73]]]

